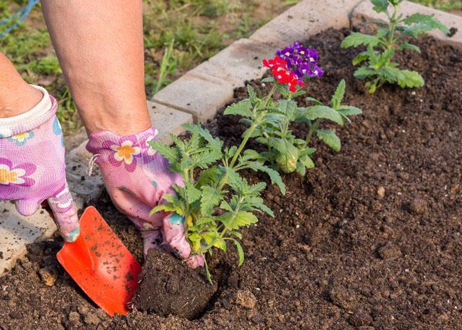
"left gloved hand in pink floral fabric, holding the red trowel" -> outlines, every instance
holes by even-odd
[[[29,216],[48,199],[59,232],[68,242],[79,236],[79,218],[66,182],[63,132],[58,104],[46,89],[26,113],[0,118],[0,200],[14,200]]]

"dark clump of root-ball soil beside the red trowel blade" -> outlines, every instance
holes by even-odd
[[[134,307],[160,316],[199,317],[218,289],[217,282],[211,285],[200,271],[164,250],[149,250]]]

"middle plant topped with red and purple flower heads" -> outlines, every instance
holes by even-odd
[[[341,142],[335,131],[320,129],[319,124],[321,120],[328,119],[343,126],[343,119],[350,122],[349,115],[362,113],[361,109],[341,104],[345,94],[345,80],[342,80],[337,87],[330,107],[314,98],[307,98],[314,102],[312,107],[298,107],[297,102],[293,100],[305,94],[305,91],[297,89],[297,86],[304,85],[305,79],[323,74],[317,65],[317,60],[316,50],[310,50],[299,43],[279,50],[275,58],[263,61],[263,65],[270,68],[273,75],[262,80],[263,83],[273,84],[269,94],[263,98],[259,91],[259,96],[256,96],[254,90],[248,87],[249,98],[226,109],[225,114],[241,115],[243,117],[241,122],[250,128],[255,120],[248,110],[252,104],[264,103],[266,107],[272,109],[272,114],[268,115],[266,122],[252,134],[252,137],[256,137],[257,142],[264,144],[267,150],[259,153],[248,149],[245,155],[261,164],[269,163],[272,168],[283,173],[297,170],[300,175],[305,175],[307,169],[314,167],[310,156],[316,149],[309,146],[314,134],[334,151],[340,150]],[[272,100],[274,91],[279,91],[283,99],[274,102]],[[305,139],[300,139],[292,133],[290,124],[293,122],[308,124],[310,129]],[[244,132],[244,135],[246,134],[247,131]]]

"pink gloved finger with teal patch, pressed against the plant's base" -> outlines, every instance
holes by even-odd
[[[191,246],[185,237],[185,219],[176,212],[163,219],[164,241],[170,245],[174,253],[187,259],[191,254]]]

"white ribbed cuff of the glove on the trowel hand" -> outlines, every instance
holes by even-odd
[[[31,86],[39,89],[43,94],[43,98],[25,113],[14,115],[10,118],[0,118],[0,138],[32,131],[32,129],[41,126],[55,115],[58,109],[57,101],[43,87]]]

